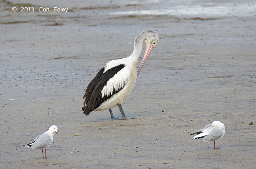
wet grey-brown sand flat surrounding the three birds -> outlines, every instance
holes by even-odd
[[[10,2],[0,2],[0,168],[256,167],[254,2]],[[68,12],[11,11],[23,3]],[[122,104],[139,118],[86,117],[88,83],[147,29],[159,44]],[[189,135],[215,120],[226,127],[216,150]],[[49,159],[22,147],[53,124]]]

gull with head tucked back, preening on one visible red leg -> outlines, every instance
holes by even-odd
[[[225,125],[220,121],[214,121],[212,124],[207,124],[203,129],[200,129],[193,134],[197,134],[193,137],[196,139],[203,139],[203,141],[214,140],[214,149],[217,149],[215,148],[215,140],[219,140],[220,137],[224,136]]]

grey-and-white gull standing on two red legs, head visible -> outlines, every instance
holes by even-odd
[[[46,158],[46,148],[50,147],[53,142],[53,136],[54,133],[57,133],[58,127],[53,125],[49,128],[49,130],[45,131],[43,134],[37,136],[34,141],[32,141],[29,144],[23,145],[24,147],[30,147],[32,149],[39,149],[42,150],[43,158],[44,158],[44,152],[45,152],[45,158]]]

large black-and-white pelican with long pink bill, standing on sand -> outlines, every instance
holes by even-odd
[[[108,109],[113,120],[137,118],[126,117],[121,103],[132,92],[136,78],[140,74],[152,49],[157,46],[158,41],[159,38],[156,32],[151,30],[141,32],[134,40],[134,49],[129,57],[111,60],[105,67],[100,69],[88,84],[84,93],[82,109],[86,116],[93,110]],[[140,58],[143,43],[146,44],[146,51],[136,73],[136,65]],[[118,106],[122,117],[114,117],[111,108],[116,106]]]

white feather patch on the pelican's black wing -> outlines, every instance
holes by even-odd
[[[117,91],[123,87],[130,80],[131,74],[131,69],[129,67],[124,67],[118,71],[114,77],[108,80],[107,85],[101,90],[102,97],[105,95],[112,95],[114,89]]]

